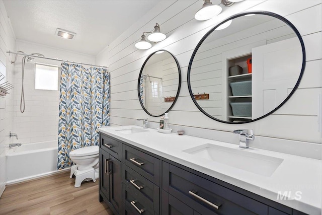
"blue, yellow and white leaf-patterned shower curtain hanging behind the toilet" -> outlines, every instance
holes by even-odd
[[[105,68],[61,63],[57,170],[69,152],[99,145],[98,126],[110,124],[110,78]]]

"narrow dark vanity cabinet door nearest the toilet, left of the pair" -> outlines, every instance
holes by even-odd
[[[100,150],[100,193],[110,201],[110,176],[109,176],[109,160],[110,154],[104,150]]]

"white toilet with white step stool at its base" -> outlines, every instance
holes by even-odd
[[[84,180],[89,181],[99,177],[99,147],[91,146],[74,150],[69,158],[75,165],[70,168],[70,178],[75,175],[75,187],[80,187]]]

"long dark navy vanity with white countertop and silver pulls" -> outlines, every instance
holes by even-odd
[[[115,214],[320,214],[319,160],[135,125],[99,131],[99,199]]]

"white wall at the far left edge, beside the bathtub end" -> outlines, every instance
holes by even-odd
[[[15,49],[15,39],[4,3],[0,1],[0,73],[6,77],[0,84],[6,81],[13,83],[14,66],[10,63],[11,56],[6,52]],[[13,130],[13,91],[0,96],[0,196],[6,188],[6,148],[12,140],[9,132]]]

